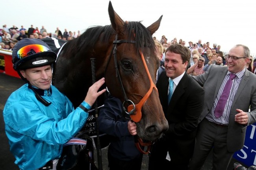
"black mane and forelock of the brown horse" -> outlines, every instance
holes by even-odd
[[[148,31],[145,26],[141,24],[141,22],[130,21],[128,24],[125,23],[126,33],[127,33],[127,41],[131,41],[134,39],[135,34],[135,46],[137,52],[139,50],[141,52],[145,51],[145,47],[148,47],[151,52],[155,52],[154,40],[152,39],[152,35],[150,31]],[[99,39],[100,35],[101,38]],[[112,28],[111,25],[106,26],[93,26],[88,28],[82,35],[67,42],[69,46],[68,49],[76,49],[76,51],[93,49],[97,41],[101,41],[102,43],[106,43],[109,41],[111,35],[115,35],[116,31]],[[148,49],[147,48],[147,49]],[[66,49],[67,50],[67,49]]]

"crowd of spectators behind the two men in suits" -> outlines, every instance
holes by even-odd
[[[162,44],[163,46],[164,51],[162,61],[164,61],[165,59],[165,50],[171,44],[182,44],[186,46],[186,41],[182,39],[179,39],[179,41],[177,41],[177,38],[168,41],[165,35],[163,35],[160,40],[157,40],[156,37],[153,37],[153,39],[160,42],[160,44]],[[206,72],[211,65],[227,66],[225,59],[226,53],[221,51],[221,45],[213,43],[211,47],[210,42],[202,43],[202,40],[200,39],[198,40],[198,42],[193,43],[192,41],[189,41],[188,43],[189,45],[187,46],[187,48],[189,48],[191,52],[190,63],[187,67],[188,74],[197,76]],[[250,60],[247,63],[246,68],[250,72],[256,74],[256,59],[253,59],[253,57],[250,56]]]

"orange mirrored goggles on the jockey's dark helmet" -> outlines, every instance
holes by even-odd
[[[22,59],[29,55],[46,51],[50,51],[49,48],[47,48],[46,46],[40,44],[31,44],[20,48],[19,51],[17,52],[17,58]]]

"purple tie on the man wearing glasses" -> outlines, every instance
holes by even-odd
[[[229,79],[226,82],[226,85],[221,93],[221,97],[219,98],[219,101],[215,107],[214,115],[216,118],[219,118],[223,115],[223,111],[226,105],[226,102],[228,101],[228,96],[232,87],[232,80],[236,77],[235,74],[229,74]]]

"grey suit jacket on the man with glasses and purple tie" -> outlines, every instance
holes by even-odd
[[[212,65],[207,72],[204,72],[199,76],[193,76],[193,78],[201,86],[204,86],[205,89],[204,108],[202,115],[199,118],[199,122],[201,122],[210,112],[227,72],[227,67]],[[250,112],[248,112],[249,106]],[[237,114],[236,109],[241,109],[244,112],[247,112],[248,125],[255,122],[256,75],[249,72],[247,69],[241,79],[230,110],[227,134],[227,147],[229,152],[236,152],[237,150],[240,150],[243,148],[243,144],[245,142],[245,131],[247,126],[235,122],[235,115]]]

